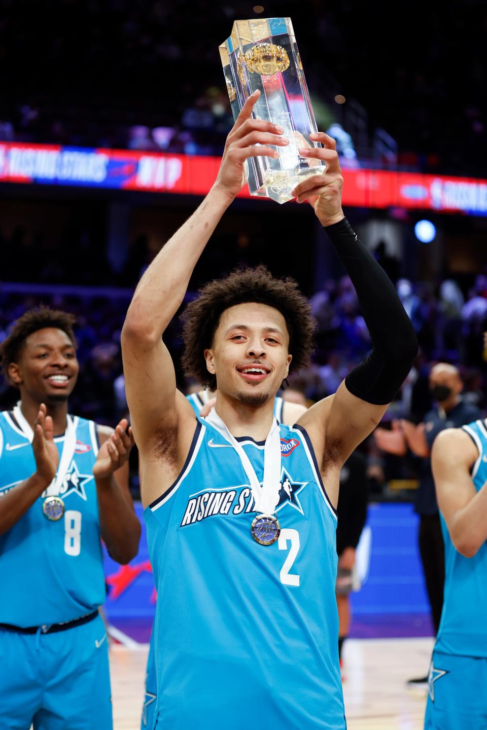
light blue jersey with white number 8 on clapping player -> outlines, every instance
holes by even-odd
[[[73,621],[104,602],[103,561],[93,464],[96,424],[73,417],[76,450],[61,486],[63,517],[42,513],[42,496],[0,535],[0,623]],[[64,436],[55,439],[61,452]],[[0,500],[36,470],[34,453],[11,412],[0,412]]]

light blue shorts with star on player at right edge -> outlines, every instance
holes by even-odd
[[[433,652],[424,730],[486,730],[487,658]]]

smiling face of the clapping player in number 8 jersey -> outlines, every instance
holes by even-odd
[[[72,393],[79,369],[66,332],[45,327],[26,337],[18,362],[9,365],[9,378],[39,403],[58,403]]]

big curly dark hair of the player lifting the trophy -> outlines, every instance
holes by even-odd
[[[183,369],[204,388],[216,389],[216,377],[207,370],[204,350],[212,347],[222,313],[255,301],[274,307],[284,317],[289,334],[289,353],[293,356],[289,374],[310,364],[315,323],[306,297],[294,279],[272,277],[266,266],[235,269],[224,279],[215,279],[199,291],[199,297],[183,312]]]

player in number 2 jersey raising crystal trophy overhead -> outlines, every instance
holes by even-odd
[[[377,426],[417,352],[394,286],[341,207],[334,141],[298,185],[355,285],[373,350],[337,393],[278,426],[275,394],[306,366],[310,307],[263,267],[208,284],[187,310],[185,369],[217,390],[200,420],[177,391],[162,335],[193,268],[245,183],[245,160],[288,144],[245,102],[199,208],[139,282],[122,331],[127,401],[158,590],[157,730],[345,730],[338,663],[336,504],[340,468]],[[276,253],[278,250],[276,249]],[[285,488],[284,488],[285,485]]]

